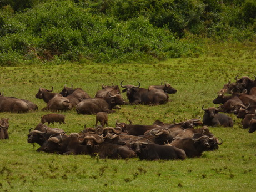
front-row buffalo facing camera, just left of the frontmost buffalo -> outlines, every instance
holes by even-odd
[[[94,136],[86,136],[81,143],[87,146],[89,155],[99,155],[101,159],[126,159],[136,156],[134,151],[130,150],[127,146],[107,143],[104,142],[103,138],[97,139]]]

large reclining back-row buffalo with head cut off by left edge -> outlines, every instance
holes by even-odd
[[[4,97],[0,93],[0,112],[26,113],[29,111],[29,105],[22,99],[14,97]]]

